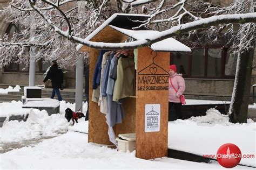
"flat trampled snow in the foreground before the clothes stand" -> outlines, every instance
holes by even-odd
[[[56,169],[56,168],[109,168],[109,169],[218,169],[218,164],[205,164],[171,158],[143,160],[135,152],[123,153],[114,149],[87,143],[87,134],[68,132],[44,140],[35,147],[23,147],[0,155],[0,168]],[[235,169],[252,169],[237,166]]]

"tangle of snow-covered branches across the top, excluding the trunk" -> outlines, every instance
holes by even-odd
[[[236,14],[249,12],[242,11],[243,9],[245,9],[245,5],[248,5],[248,3],[245,3],[243,5],[236,3],[226,8],[220,9],[214,7],[213,9],[213,6],[211,4],[203,0],[199,0],[198,2],[181,0],[174,4],[170,1],[164,0],[152,2],[144,1],[147,3],[144,5],[140,4],[141,6],[146,6],[145,11],[142,11],[143,9],[141,10],[137,7],[131,7],[132,2],[138,3],[142,1],[119,0],[117,1],[117,4],[122,4],[116,6],[117,8],[112,6],[113,4],[111,4],[109,1],[105,0],[86,1],[86,3],[83,2],[83,5],[79,1],[72,1],[73,3],[70,3],[68,5],[68,8],[66,8],[66,5],[65,8],[62,8],[62,11],[65,13],[66,16],[66,18],[64,18],[62,15],[59,15],[59,11],[56,6],[59,7],[60,5],[66,4],[71,1],[44,1],[51,3],[54,2],[53,4],[55,5],[55,8],[53,8],[53,6],[51,5],[47,6],[47,4],[43,1],[36,1],[36,5],[34,5],[35,9],[33,9],[31,8],[28,1],[24,2],[23,0],[13,0],[11,3],[12,5],[17,6],[19,9],[28,9],[28,12],[21,12],[16,8],[11,8],[11,5],[7,6],[3,10],[0,16],[5,18],[6,23],[13,23],[14,25],[17,25],[17,29],[21,30],[21,32],[17,33],[17,31],[15,31],[15,33],[12,33],[12,36],[7,36],[3,39],[1,43],[4,42],[6,45],[0,45],[0,51],[2,51],[1,54],[6,55],[6,57],[8,55],[16,56],[17,51],[21,50],[23,52],[22,58],[29,59],[29,53],[23,49],[23,47],[25,47],[26,45],[23,44],[23,42],[28,42],[28,44],[40,45],[44,44],[43,42],[48,42],[49,40],[51,40],[50,44],[46,46],[38,46],[36,51],[36,58],[44,58],[45,60],[63,59],[63,63],[69,63],[75,61],[73,59],[77,55],[79,55],[76,51],[77,43],[99,49],[131,49],[136,47],[149,46],[154,42],[170,37],[175,37],[176,39],[180,40],[179,38],[181,36],[178,35],[182,33],[187,33],[191,30],[193,31],[194,29],[198,30],[195,31],[196,33],[200,31],[206,32],[208,30],[206,36],[213,37],[213,39],[217,39],[217,37],[220,35],[232,35],[232,39],[228,39],[230,40],[228,42],[229,44],[235,44],[235,47],[239,47],[239,43],[237,43],[237,41],[241,39],[243,42],[240,45],[241,47],[245,47],[244,45],[248,44],[246,43],[246,41],[250,40],[250,37],[244,37],[244,34],[251,32],[250,29],[248,29],[250,28],[249,25],[251,24],[242,25],[241,23],[255,23],[254,13],[252,13],[252,15],[250,13],[239,15]],[[237,1],[241,0],[236,0],[236,2]],[[214,10],[216,13],[213,13]],[[91,42],[84,40],[84,38],[87,37],[92,31],[94,31],[100,24],[102,24],[106,20],[106,18],[109,18],[115,12],[149,13],[151,17],[148,20],[146,20],[145,22],[140,21],[142,22],[142,26],[162,32],[157,35],[152,35],[151,37],[146,37],[145,39],[120,44]],[[209,15],[209,13],[210,16],[215,15],[215,17],[205,18]],[[232,13],[233,15],[226,15],[228,13]],[[38,16],[38,14],[40,16]],[[220,16],[217,16],[217,14]],[[225,16],[227,18],[225,18]],[[36,22],[31,23],[31,18],[35,18]],[[167,20],[165,19],[169,19],[169,22],[166,23]],[[70,23],[70,29],[67,28],[68,25],[62,24],[66,20]],[[45,21],[48,24],[45,24]],[[232,23],[238,23],[238,26],[234,26],[234,24]],[[178,26],[178,24],[180,25]],[[35,29],[31,30],[31,26],[35,26]],[[237,29],[239,26],[239,31],[241,32],[234,32],[234,28]],[[69,30],[71,29],[72,33],[69,32]],[[32,37],[31,34],[33,34]],[[238,38],[233,39],[233,37]],[[184,41],[181,40],[181,42],[188,41],[190,40],[188,40],[187,37],[184,38]],[[191,42],[188,43],[192,44]],[[193,43],[193,45],[196,45],[197,42]],[[18,44],[20,44],[21,46],[19,46]],[[11,47],[11,45],[15,45],[15,47]],[[4,59],[4,61],[5,60],[6,58]],[[73,63],[69,64],[72,65]]]

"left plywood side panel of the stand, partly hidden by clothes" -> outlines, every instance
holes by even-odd
[[[90,48],[90,81],[89,81],[89,133],[88,141],[97,144],[112,145],[107,134],[108,126],[105,115],[99,110],[97,103],[92,102],[92,77],[98,59],[99,51]]]

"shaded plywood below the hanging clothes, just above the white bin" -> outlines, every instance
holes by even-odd
[[[123,133],[135,133],[136,124],[136,98],[127,97],[124,99],[123,109],[125,117],[122,124],[116,125],[116,136]]]

